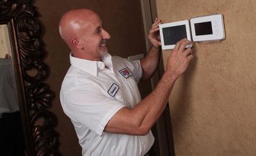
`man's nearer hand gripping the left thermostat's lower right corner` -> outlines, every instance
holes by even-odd
[[[177,79],[188,68],[189,61],[193,59],[192,49],[185,49],[186,45],[192,43],[186,38],[176,43],[171,52],[168,63],[166,65],[166,72],[174,79]]]

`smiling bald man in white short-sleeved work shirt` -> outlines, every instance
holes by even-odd
[[[108,54],[109,33],[97,13],[71,10],[61,17],[60,35],[71,49],[71,66],[61,86],[61,105],[71,119],[83,155],[145,155],[154,143],[150,131],[164,111],[173,84],[193,58],[191,43],[177,43],[166,72],[150,95],[141,100],[140,80],[156,71],[157,39],[161,20],[156,19],[148,38],[152,48],[145,58],[129,61]]]

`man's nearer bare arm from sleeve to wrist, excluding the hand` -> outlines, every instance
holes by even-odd
[[[108,122],[105,131],[140,136],[148,134],[163,113],[176,79],[174,75],[164,73],[150,95],[132,109],[128,107],[120,109]]]

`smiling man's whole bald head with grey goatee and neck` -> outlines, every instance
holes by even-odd
[[[111,38],[102,27],[100,17],[92,10],[72,10],[61,18],[61,38],[76,58],[100,61],[108,52],[106,41]]]

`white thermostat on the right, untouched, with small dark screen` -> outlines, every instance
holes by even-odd
[[[194,42],[225,39],[222,14],[192,18],[190,25]]]

